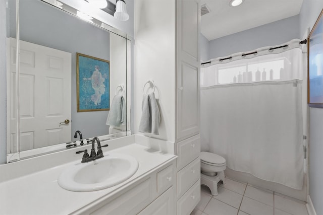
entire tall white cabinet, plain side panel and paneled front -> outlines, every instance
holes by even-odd
[[[200,200],[199,35],[199,0],[135,1],[135,132],[143,87],[153,80],[159,135],[144,135],[168,140],[159,150],[178,155],[174,195],[179,215],[190,214]]]

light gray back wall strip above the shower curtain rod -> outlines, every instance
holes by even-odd
[[[263,46],[279,45],[299,38],[299,16],[209,41],[208,59],[228,56]]]

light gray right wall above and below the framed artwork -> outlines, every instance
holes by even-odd
[[[323,9],[321,0],[303,0],[300,12],[299,36],[312,29],[319,13]],[[316,214],[323,214],[323,109],[309,108],[309,196]]]

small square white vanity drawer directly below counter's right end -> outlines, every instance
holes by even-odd
[[[174,167],[172,164],[157,173],[157,193],[163,193],[171,187],[174,180]]]

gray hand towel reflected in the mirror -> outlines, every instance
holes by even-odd
[[[126,104],[123,96],[116,95],[112,99],[109,115],[106,119],[106,125],[119,127],[125,124]]]

